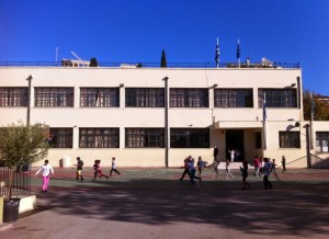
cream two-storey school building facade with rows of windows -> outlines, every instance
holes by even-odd
[[[0,114],[48,127],[54,166],[179,167],[212,162],[214,146],[220,161],[329,157],[329,123],[303,117],[300,68],[1,67]]]

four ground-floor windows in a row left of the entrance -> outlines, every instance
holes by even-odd
[[[80,128],[79,148],[118,148],[118,128]],[[171,148],[209,148],[208,128],[171,128]],[[72,128],[50,128],[54,148],[72,148]],[[164,128],[125,128],[126,148],[164,148]]]

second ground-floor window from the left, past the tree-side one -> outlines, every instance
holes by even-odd
[[[118,128],[80,128],[80,148],[118,148]]]

